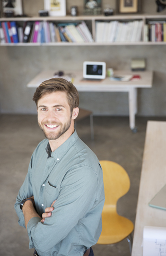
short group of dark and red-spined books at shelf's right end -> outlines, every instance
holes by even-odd
[[[144,26],[145,42],[166,42],[166,21],[148,21]]]

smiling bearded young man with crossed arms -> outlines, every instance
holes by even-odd
[[[104,204],[102,169],[78,138],[78,92],[71,82],[52,78],[34,93],[45,140],[34,150],[16,198],[19,224],[27,228],[39,256],[91,256],[101,234]]]

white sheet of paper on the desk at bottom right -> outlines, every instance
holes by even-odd
[[[143,256],[166,256],[166,227],[144,227]]]

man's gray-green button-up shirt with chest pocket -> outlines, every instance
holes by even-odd
[[[28,222],[30,249],[36,248],[40,256],[82,256],[97,243],[102,230],[102,169],[97,156],[76,131],[50,157],[47,145],[45,139],[34,150],[16,198],[19,224],[25,227],[20,210],[24,198],[34,196],[40,216],[56,199],[54,211],[44,223],[38,217]]]

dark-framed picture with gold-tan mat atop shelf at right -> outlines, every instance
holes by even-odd
[[[137,13],[141,11],[141,0],[118,0],[119,13]]]

